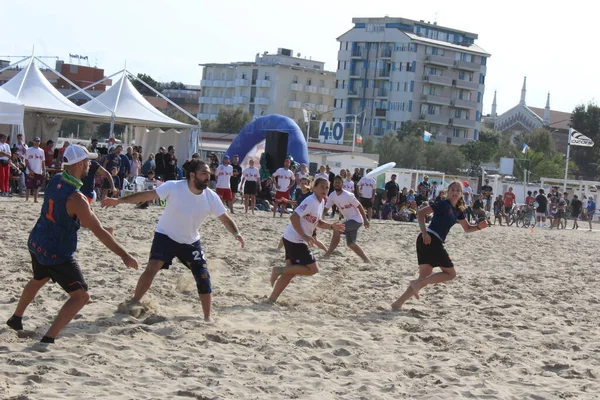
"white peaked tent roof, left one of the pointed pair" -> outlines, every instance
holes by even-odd
[[[76,106],[63,96],[42,74],[33,59],[2,89],[19,99],[26,111],[46,112],[54,115],[74,115],[80,117],[98,117]]]

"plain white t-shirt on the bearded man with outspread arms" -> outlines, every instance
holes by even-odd
[[[167,181],[156,188],[156,193],[161,200],[167,201],[156,232],[177,243],[191,244],[200,240],[198,229],[206,217],[219,217],[226,212],[215,192],[205,189],[196,195],[190,191],[187,180]]]

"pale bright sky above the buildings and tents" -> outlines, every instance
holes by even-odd
[[[498,113],[518,104],[527,76],[528,105],[571,112],[596,102],[600,3],[380,0],[19,0],[2,5],[0,59],[69,54],[89,57],[105,75],[123,69],[157,81],[200,84],[200,63],[254,60],[288,48],[335,70],[336,38],[355,17],[403,17],[473,32],[492,56],[483,113],[497,91]],[[18,59],[10,59],[17,61]],[[47,59],[54,63],[54,60]],[[77,63],[76,60],[73,60]],[[53,66],[53,65],[52,65]]]

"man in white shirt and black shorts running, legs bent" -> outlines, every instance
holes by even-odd
[[[319,266],[314,255],[308,248],[314,244],[312,237],[315,229],[333,229],[343,232],[344,225],[336,222],[328,224],[321,220],[325,197],[329,191],[329,181],[319,178],[315,180],[313,194],[308,196],[302,204],[296,207],[290,223],[283,233],[285,247],[285,267],[274,267],[271,271],[271,286],[274,286],[270,302],[277,298],[296,275],[314,275],[319,272]]]

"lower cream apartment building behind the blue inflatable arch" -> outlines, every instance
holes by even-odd
[[[200,65],[200,119],[215,119],[221,108],[294,120],[303,118],[303,109],[321,115],[333,109],[335,73],[325,71],[324,62],[294,57],[290,49],[257,54],[254,62]]]

